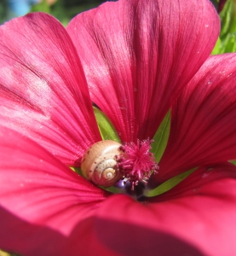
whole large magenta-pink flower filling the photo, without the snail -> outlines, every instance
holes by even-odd
[[[66,29],[42,13],[1,26],[0,247],[234,255],[236,55],[209,57],[218,32],[207,0],[105,3]],[[149,187],[197,170],[142,201],[78,176],[68,166],[101,141],[91,102],[117,129],[126,171],[141,151],[141,165],[155,166],[138,142],[153,138],[171,108],[170,139]]]

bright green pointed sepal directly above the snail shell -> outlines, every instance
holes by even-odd
[[[118,132],[116,131],[114,125],[110,119],[107,118],[106,114],[101,112],[98,108],[94,107],[95,118],[97,121],[97,125],[99,131],[101,133],[101,137],[103,140],[112,140],[120,143],[120,138],[118,137]]]

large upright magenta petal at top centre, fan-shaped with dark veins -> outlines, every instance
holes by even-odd
[[[129,142],[153,137],[210,55],[219,19],[206,0],[121,0],[76,16],[67,31],[92,100]]]

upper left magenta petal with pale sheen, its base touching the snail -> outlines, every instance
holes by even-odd
[[[74,165],[101,137],[65,28],[50,15],[26,15],[1,26],[0,48],[0,124]]]

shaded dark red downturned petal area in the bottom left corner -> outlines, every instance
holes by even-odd
[[[1,207],[0,216],[8,221],[8,225],[3,225],[0,229],[0,247],[8,252],[24,256],[92,256],[94,253],[118,256],[99,241],[94,232],[95,218],[84,219],[73,229],[70,236],[63,236],[47,227],[26,223]]]

